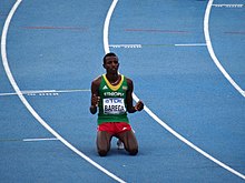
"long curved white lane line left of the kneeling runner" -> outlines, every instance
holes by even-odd
[[[8,33],[8,29],[9,29],[9,24],[10,21],[12,19],[12,16],[14,14],[17,8],[19,7],[19,4],[21,3],[22,0],[17,0],[16,3],[13,4],[12,9],[10,10],[8,18],[4,22],[3,26],[3,30],[2,30],[2,37],[1,37],[1,54],[2,54],[2,63],[7,73],[7,77],[11,83],[11,85],[13,87],[14,91],[17,92],[18,96],[20,98],[21,102],[24,104],[24,106],[29,110],[29,112],[36,118],[36,120],[43,125],[51,134],[53,134],[53,136],[56,136],[59,141],[61,141],[67,148],[69,148],[71,151],[74,151],[76,154],[78,154],[79,156],[81,156],[82,159],[85,159],[88,163],[90,163],[91,165],[94,165],[95,167],[97,167],[98,170],[100,170],[101,172],[104,172],[105,174],[107,174],[108,176],[110,176],[111,179],[114,179],[115,181],[125,183],[124,180],[119,179],[118,176],[116,176],[115,174],[110,173],[108,170],[106,170],[105,167],[102,167],[101,165],[99,165],[98,163],[96,163],[95,161],[92,161],[91,159],[89,159],[87,155],[85,155],[82,152],[80,152],[78,149],[76,149],[74,145],[71,145],[67,140],[65,140],[59,133],[57,133],[52,128],[50,128],[45,120],[41,119],[41,116],[33,110],[33,108],[29,104],[29,102],[26,100],[26,98],[23,96],[23,94],[21,93],[18,84],[16,83],[13,75],[10,71],[9,68],[9,63],[8,63],[8,59],[7,59],[7,50],[6,50],[6,41],[7,41],[7,33]]]

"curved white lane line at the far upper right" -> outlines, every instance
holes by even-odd
[[[207,8],[205,11],[205,17],[204,17],[204,35],[207,44],[207,50],[210,54],[210,58],[213,59],[214,63],[216,67],[219,69],[219,71],[224,74],[224,77],[229,81],[229,83],[245,98],[245,91],[241,89],[241,87],[232,79],[232,77],[226,72],[226,70],[223,68],[220,62],[218,61],[217,57],[215,55],[210,37],[209,37],[209,14],[210,14],[210,9],[214,0],[209,0],[207,3]]]

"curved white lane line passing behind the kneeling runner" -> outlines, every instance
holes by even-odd
[[[111,7],[115,8],[116,7],[116,3],[117,3],[118,0],[114,0]],[[112,13],[112,10],[111,10],[111,13]],[[111,16],[111,13],[109,16]],[[109,44],[108,44],[108,27],[109,27],[109,20],[110,20],[110,17],[107,18],[108,21],[105,22],[105,27],[104,28],[107,28],[104,30],[104,33],[106,33],[106,35],[104,34],[104,49],[105,49],[105,52],[108,53],[110,50],[109,50]],[[105,38],[107,38],[105,40]],[[133,98],[134,100],[137,102],[139,101],[138,96],[133,93]],[[158,122],[163,128],[165,128],[168,132],[170,132],[173,135],[175,135],[177,139],[179,139],[182,142],[184,142],[185,144],[187,144],[188,146],[190,146],[192,149],[194,149],[195,151],[197,151],[198,153],[203,154],[205,157],[209,159],[210,161],[213,161],[214,163],[218,164],[219,166],[226,169],[227,171],[229,171],[231,173],[242,177],[243,180],[245,180],[245,175],[243,175],[242,173],[235,171],[234,169],[227,166],[226,164],[224,164],[223,162],[218,161],[217,159],[213,157],[212,155],[209,155],[208,153],[206,153],[205,151],[203,151],[202,149],[199,149],[198,146],[196,146],[195,144],[193,144],[192,142],[189,142],[187,139],[185,139],[184,136],[182,136],[180,134],[178,134],[176,131],[174,131],[170,126],[168,126],[164,121],[161,121],[155,113],[153,113],[150,111],[150,109],[148,109],[146,105],[144,106],[144,110],[156,121]]]

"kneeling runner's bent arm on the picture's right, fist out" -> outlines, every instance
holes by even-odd
[[[127,79],[128,83],[128,90],[127,90],[127,95],[126,95],[126,102],[127,102],[127,111],[129,113],[134,113],[136,111],[141,111],[144,109],[144,103],[143,101],[138,101],[136,105],[133,105],[133,91],[134,91],[134,83],[130,79]]]

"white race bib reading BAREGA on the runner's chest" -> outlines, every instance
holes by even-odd
[[[126,112],[125,101],[121,98],[107,98],[104,99],[102,103],[105,114],[122,114]]]

